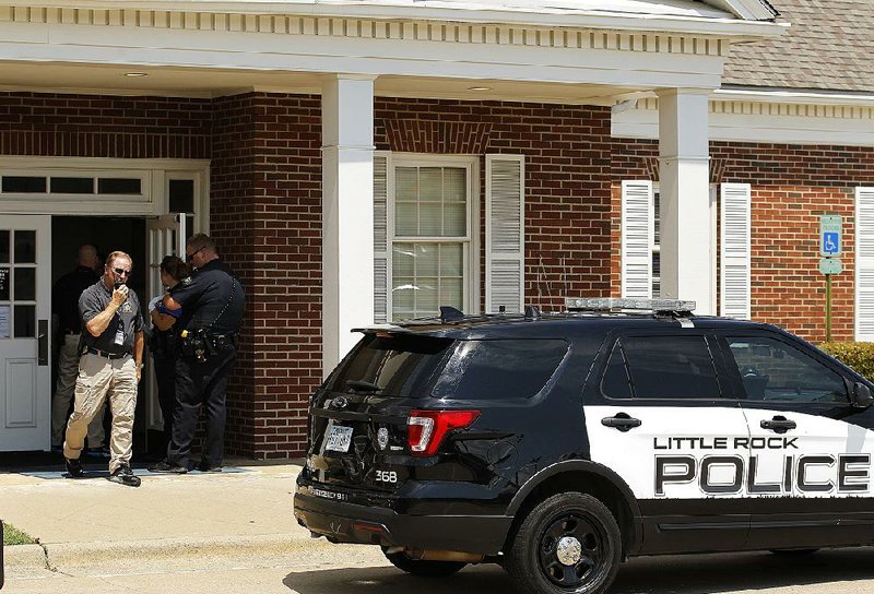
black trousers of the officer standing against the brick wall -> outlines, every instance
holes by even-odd
[[[167,462],[188,467],[191,441],[194,439],[201,404],[206,406],[206,441],[203,462],[221,466],[224,452],[225,389],[227,375],[234,367],[237,349],[224,344],[203,363],[192,356],[181,355],[176,361],[176,414],[173,419],[173,439],[167,445]]]

